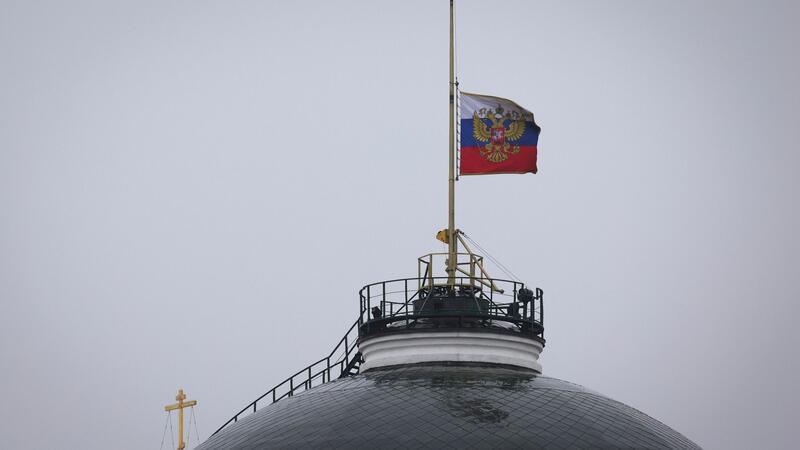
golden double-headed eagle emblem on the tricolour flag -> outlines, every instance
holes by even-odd
[[[491,126],[484,119],[491,121]],[[508,128],[506,121],[511,121]],[[525,133],[525,119],[517,111],[481,108],[472,114],[472,136],[479,142],[488,142],[481,149],[481,156],[493,163],[503,162],[509,155],[519,153],[519,145],[511,145]]]

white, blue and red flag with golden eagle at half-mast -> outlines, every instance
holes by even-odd
[[[461,92],[461,175],[536,173],[541,128],[511,100]]]

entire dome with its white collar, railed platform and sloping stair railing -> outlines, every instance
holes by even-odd
[[[198,448],[699,448],[634,408],[542,375],[541,289],[420,273],[364,286],[358,319],[329,356]]]

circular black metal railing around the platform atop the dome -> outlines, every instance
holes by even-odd
[[[366,285],[359,297],[360,338],[458,327],[522,334],[544,342],[544,292],[518,281],[455,277],[450,285],[447,277],[399,278]]]

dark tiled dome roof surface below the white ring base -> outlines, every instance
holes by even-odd
[[[656,419],[522,367],[377,367],[264,407],[199,449],[699,448]]]

